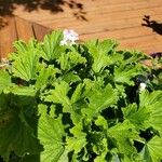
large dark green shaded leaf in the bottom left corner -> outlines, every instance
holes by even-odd
[[[37,154],[42,150],[32,129],[23,123],[14,111],[8,110],[0,118],[0,154],[6,162],[11,151],[23,157],[26,153]]]

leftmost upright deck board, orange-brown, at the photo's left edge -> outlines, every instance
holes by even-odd
[[[0,58],[5,58],[13,51],[13,42],[17,40],[15,18],[5,17],[8,25],[0,30]]]

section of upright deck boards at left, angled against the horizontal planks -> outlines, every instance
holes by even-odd
[[[0,30],[0,58],[6,57],[12,52],[13,42],[16,40],[28,41],[31,38],[42,40],[45,33],[52,31],[42,25],[19,18],[17,16],[5,17],[8,25]]]

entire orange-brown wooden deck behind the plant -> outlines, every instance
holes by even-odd
[[[83,41],[111,38],[121,49],[162,51],[162,0],[59,0],[57,5],[42,1],[32,9],[15,3],[15,17],[3,15],[8,25],[0,30],[1,57],[13,50],[14,40],[41,40],[51,29],[65,28],[76,30]]]

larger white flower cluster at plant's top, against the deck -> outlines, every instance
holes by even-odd
[[[76,44],[76,41],[79,40],[79,35],[75,32],[73,30],[65,29],[63,31],[64,38],[60,41],[60,45],[72,45]]]

